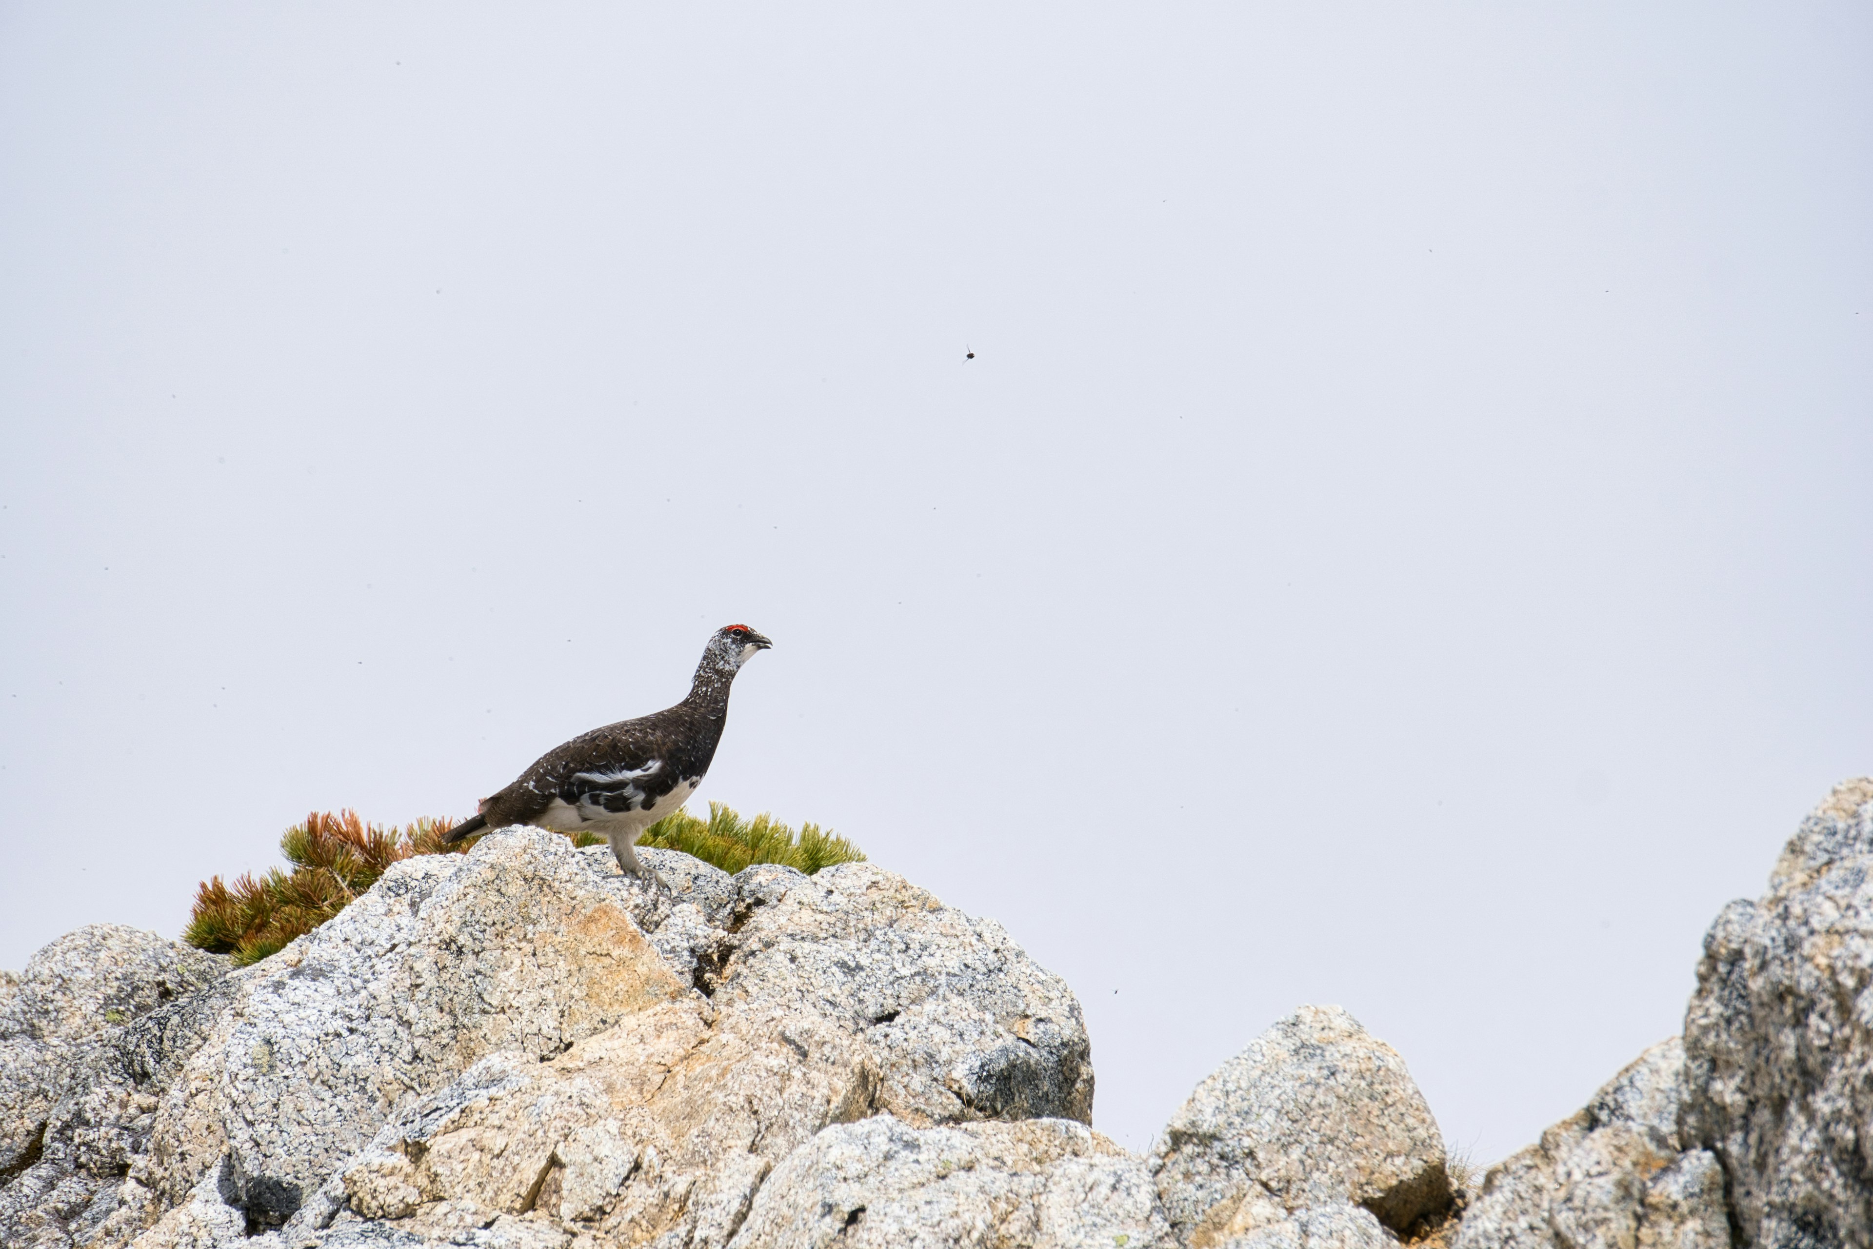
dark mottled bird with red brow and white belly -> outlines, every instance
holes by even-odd
[[[493,798],[483,798],[442,841],[489,828],[532,824],[558,833],[603,833],[618,867],[667,888],[631,848],[644,830],[676,811],[708,773],[729,721],[729,685],[755,652],[774,646],[747,625],[715,629],[702,648],[689,697],[639,719],[583,732],[558,745]]]

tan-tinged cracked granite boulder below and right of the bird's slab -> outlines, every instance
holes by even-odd
[[[287,1240],[354,1221],[435,1240],[506,1215],[712,1249],[828,1124],[1090,1116],[1079,1006],[998,925],[869,863],[751,867],[734,888],[697,944],[712,998],[549,1062],[483,1060],[388,1122]]]

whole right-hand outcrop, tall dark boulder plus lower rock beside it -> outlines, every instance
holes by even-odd
[[[1459,1249],[1873,1245],[1873,779],[1704,936],[1684,1039],[1491,1168]]]

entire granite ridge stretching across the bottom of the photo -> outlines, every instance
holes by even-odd
[[[1821,1249],[1873,1243],[1873,781],[1718,918],[1684,1039],[1455,1193],[1405,1062],[1302,1007],[1148,1155],[1079,1004],[871,863],[500,830],[230,972],[92,927],[0,976],[0,1243]]]

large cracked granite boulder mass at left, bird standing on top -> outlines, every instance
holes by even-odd
[[[0,1243],[721,1245],[830,1124],[1090,1120],[1079,1004],[993,921],[869,863],[646,854],[671,895],[502,830],[234,974],[54,944],[4,981]],[[112,972],[133,938],[167,979]]]

